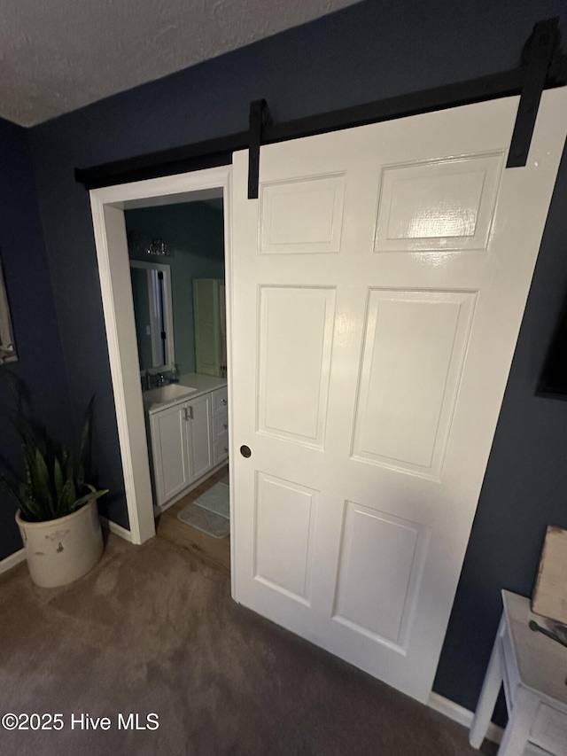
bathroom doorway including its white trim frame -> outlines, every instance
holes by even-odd
[[[90,191],[134,543],[156,526],[170,537],[177,510],[215,484],[229,485],[229,175],[224,166]],[[152,432],[161,433],[161,469]],[[180,475],[174,487],[159,485]],[[226,513],[232,524],[231,507]],[[203,539],[179,545],[193,543],[190,550],[207,557]],[[223,540],[219,549],[209,537],[208,561],[229,572]]]

